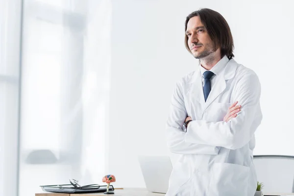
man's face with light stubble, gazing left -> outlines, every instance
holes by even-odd
[[[195,58],[204,58],[215,51],[214,43],[202,25],[199,16],[189,20],[186,35],[188,36],[188,46]]]

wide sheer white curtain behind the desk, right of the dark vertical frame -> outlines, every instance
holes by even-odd
[[[102,184],[110,26],[110,0],[23,1],[19,196],[69,178]]]

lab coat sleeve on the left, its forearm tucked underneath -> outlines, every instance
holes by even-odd
[[[170,114],[166,125],[167,144],[171,152],[179,154],[210,154],[219,153],[220,147],[192,144],[185,141],[182,125],[187,118],[187,112],[182,94],[182,83],[177,82],[173,91]]]

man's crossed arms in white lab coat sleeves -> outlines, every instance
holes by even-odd
[[[259,103],[261,87],[253,71],[245,74],[234,87],[232,96],[242,105],[238,115],[228,118],[231,112],[229,109],[225,121],[192,121],[188,124],[187,133],[182,130],[187,118],[182,90],[183,82],[177,82],[172,94],[166,128],[168,147],[174,153],[213,155],[218,154],[221,147],[229,149],[243,147],[251,140],[261,123]]]

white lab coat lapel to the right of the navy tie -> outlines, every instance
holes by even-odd
[[[226,80],[234,77],[237,65],[238,64],[234,59],[231,59],[227,63],[224,70],[220,73],[219,77],[217,77],[216,83],[209,93],[209,96],[204,105],[204,110],[225,90]]]

